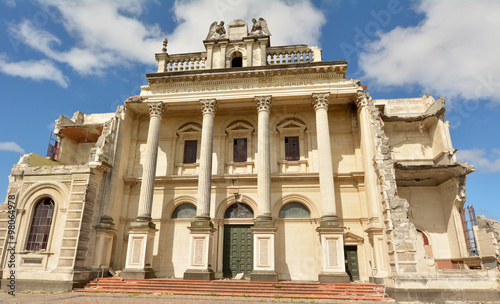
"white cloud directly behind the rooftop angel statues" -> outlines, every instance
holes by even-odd
[[[252,26],[252,18],[264,18],[271,31],[272,45],[318,45],[325,16],[310,1],[195,0],[176,1],[174,20],[179,24],[168,35],[169,53],[204,50],[210,24],[229,24],[242,19]]]

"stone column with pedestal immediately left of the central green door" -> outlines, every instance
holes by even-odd
[[[196,218],[191,222],[188,269],[184,272],[186,280],[213,280],[212,270],[213,235],[216,231],[210,221],[210,196],[212,189],[212,150],[214,116],[217,110],[215,99],[200,100],[203,113],[201,130],[200,174],[198,179],[198,206]]]

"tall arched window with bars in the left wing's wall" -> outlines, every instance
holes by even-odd
[[[30,234],[28,235],[27,251],[47,249],[50,226],[54,216],[54,201],[50,197],[43,198],[35,205]]]

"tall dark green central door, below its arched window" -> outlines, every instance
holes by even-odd
[[[253,270],[253,233],[250,225],[224,225],[223,273],[234,278],[244,272],[250,277]]]

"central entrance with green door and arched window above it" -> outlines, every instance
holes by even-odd
[[[250,277],[253,270],[252,225],[238,224],[238,219],[253,219],[253,210],[244,203],[229,206],[224,218],[230,224],[224,225],[223,275],[234,278],[238,273]]]

